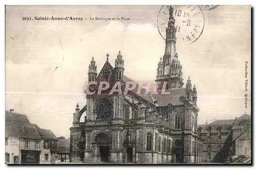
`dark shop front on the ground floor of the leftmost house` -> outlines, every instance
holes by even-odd
[[[22,164],[39,164],[40,151],[22,150]]]

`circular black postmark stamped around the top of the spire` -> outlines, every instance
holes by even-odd
[[[157,17],[158,32],[165,40],[168,20],[171,17],[170,9],[175,20],[176,40],[184,43],[196,42],[204,30],[204,14],[198,5],[164,5],[161,7]]]

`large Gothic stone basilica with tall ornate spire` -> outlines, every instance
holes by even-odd
[[[165,52],[157,68],[156,82],[167,83],[170,94],[87,94],[86,106],[73,114],[70,128],[70,161],[84,163],[200,163],[203,143],[197,133],[197,89],[188,77],[182,79],[182,66],[176,53],[176,28],[170,8]],[[94,58],[89,65],[89,82],[110,84],[132,81],[124,75],[121,52],[111,65],[106,62],[97,74]],[[97,88],[97,85],[96,87]],[[80,122],[82,114],[84,123]]]

